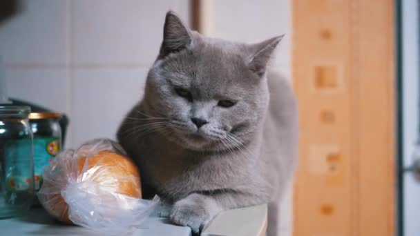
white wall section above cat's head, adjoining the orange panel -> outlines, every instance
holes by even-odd
[[[213,0],[213,35],[222,39],[256,43],[285,34],[272,61],[289,75],[291,48],[290,0]]]

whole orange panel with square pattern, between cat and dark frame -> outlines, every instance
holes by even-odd
[[[294,0],[294,235],[394,235],[393,1]]]

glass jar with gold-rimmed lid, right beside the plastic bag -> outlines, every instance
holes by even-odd
[[[61,119],[61,114],[56,112],[32,112],[29,114],[29,124],[34,135],[35,191],[41,188],[42,171],[61,150],[59,119]]]

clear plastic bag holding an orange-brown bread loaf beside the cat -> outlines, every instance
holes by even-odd
[[[140,175],[125,155],[108,139],[59,153],[44,169],[39,201],[62,222],[106,234],[135,230],[159,199],[141,199]]]

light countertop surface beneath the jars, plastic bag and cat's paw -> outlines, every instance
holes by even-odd
[[[147,236],[189,236],[191,229],[184,226],[175,226],[169,219],[152,217],[135,230],[135,235]],[[203,230],[203,236],[260,236],[260,230],[265,224],[267,205],[251,206],[220,213]],[[42,208],[32,208],[28,215],[15,219],[0,219],[0,235],[100,235],[86,228],[58,224],[49,217]],[[283,236],[281,234],[280,236]]]

